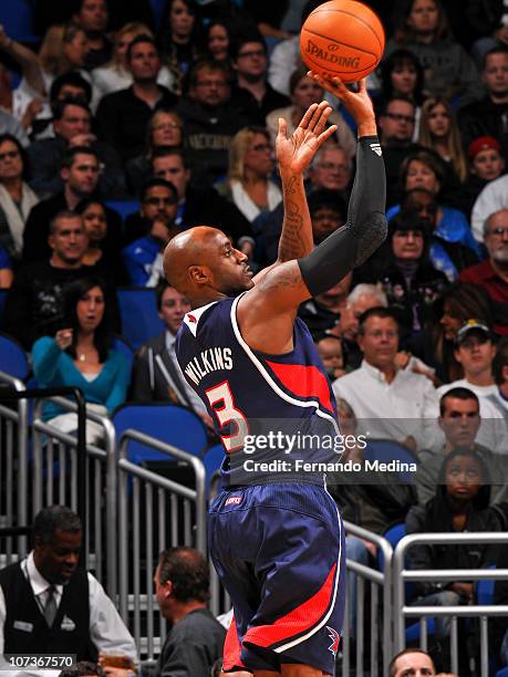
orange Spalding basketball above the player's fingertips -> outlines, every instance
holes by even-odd
[[[311,71],[343,82],[366,77],[380,63],[384,30],[377,15],[355,0],[331,0],[309,14],[300,51]]]

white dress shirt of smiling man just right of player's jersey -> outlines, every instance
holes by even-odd
[[[424,446],[426,419],[437,406],[436,390],[426,376],[398,369],[387,383],[383,372],[363,360],[360,368],[334,381],[332,387],[372,439],[403,441],[412,436],[418,447]]]

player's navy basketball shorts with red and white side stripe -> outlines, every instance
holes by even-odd
[[[208,527],[235,612],[225,671],[303,664],[333,675],[346,576],[342,521],[328,491],[303,482],[228,489],[212,501]]]

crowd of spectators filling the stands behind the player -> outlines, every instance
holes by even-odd
[[[340,487],[335,498],[379,533],[411,506],[411,531],[434,531],[437,513],[454,531],[491,530],[502,520],[485,511],[493,501],[505,511],[508,454],[508,10],[475,0],[460,15],[450,0],[396,0],[393,12],[367,3],[387,33],[367,88],[388,237],[300,315],[343,425],[367,421],[421,465],[414,494],[388,491],[385,512],[369,483]],[[0,27],[2,325],[41,386],[79,386],[105,416],[128,398],[188,406],[212,439],[175,360],[188,303],[164,282],[162,252],[176,233],[208,223],[253,270],[276,260],[278,119],[291,134],[326,97],[299,54],[300,25],[320,0],[168,0],[160,17],[141,1],[34,4],[38,41]],[[355,176],[354,123],[336,105],[329,123],[338,129],[307,177],[315,243],[346,222]],[[128,217],[118,201],[133,205]],[[164,322],[132,375],[113,343],[118,287],[154,288]],[[45,417],[75,428],[72,415]],[[96,433],[89,427],[100,444]],[[452,466],[475,475],[478,513],[476,494],[450,488]],[[489,477],[496,487],[481,491]],[[364,563],[374,554],[351,548]],[[454,603],[473,595],[448,591]]]

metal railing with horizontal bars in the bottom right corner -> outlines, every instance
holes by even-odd
[[[415,544],[481,544],[481,543],[508,543],[506,532],[468,532],[468,533],[415,533],[401,539],[393,554],[393,582],[394,582],[394,653],[405,647],[405,619],[419,618],[421,646],[427,648],[427,624],[428,617],[450,618],[450,656],[452,673],[458,673],[458,634],[457,617],[479,617],[480,619],[480,675],[488,677],[488,618],[494,616],[508,616],[508,605],[479,605],[465,606],[431,606],[412,605],[405,603],[404,583],[409,581],[435,581],[455,582],[457,579],[467,581],[505,581],[508,580],[508,569],[454,569],[454,570],[408,570],[404,563],[407,550]]]

